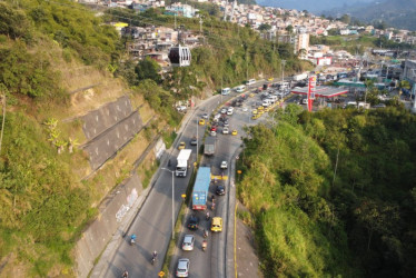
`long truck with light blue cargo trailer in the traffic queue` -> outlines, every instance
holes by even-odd
[[[192,209],[207,209],[207,199],[209,183],[211,182],[211,169],[209,167],[200,167],[192,190]]]

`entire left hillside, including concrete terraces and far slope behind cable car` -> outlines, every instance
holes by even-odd
[[[160,77],[155,62],[128,59],[108,24],[117,14],[174,26],[155,10],[101,18],[66,0],[0,2],[1,276],[75,276],[75,246],[108,193],[132,176],[140,178],[137,193],[149,185],[158,163],[146,150],[160,136],[168,147],[175,139],[176,101],[277,76],[281,59],[285,72],[310,67],[287,44],[207,17],[207,43],[192,50],[192,66]],[[199,30],[196,20],[177,20]],[[120,128],[125,120],[131,125]]]

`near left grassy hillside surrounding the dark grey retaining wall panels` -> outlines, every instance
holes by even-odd
[[[131,153],[141,153],[159,126],[138,132],[105,167],[91,167],[83,117],[129,90],[107,70],[120,54],[118,33],[70,1],[0,2],[0,88],[7,96],[0,276],[73,276],[75,244],[132,169]],[[129,99],[143,123],[152,121],[155,111],[139,91]]]

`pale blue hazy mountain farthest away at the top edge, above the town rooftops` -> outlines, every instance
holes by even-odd
[[[268,7],[279,7],[285,9],[296,9],[299,11],[307,10],[309,12],[320,14],[324,10],[334,8],[345,8],[355,3],[368,3],[373,0],[257,0],[258,4]]]

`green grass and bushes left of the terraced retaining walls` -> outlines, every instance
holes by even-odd
[[[2,266],[6,276],[16,275],[8,271],[18,264],[27,276],[71,271],[72,247],[95,215],[93,190],[72,172],[72,163],[85,160],[77,142],[63,139],[48,117],[69,106],[61,61],[105,69],[117,48],[116,30],[72,1],[0,2],[0,93],[7,95],[0,259],[13,255]]]

